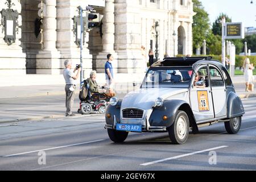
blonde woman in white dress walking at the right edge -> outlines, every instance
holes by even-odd
[[[244,72],[244,76],[245,76],[245,91],[249,92],[249,84],[253,84],[253,65],[250,64],[250,59],[246,58],[243,61],[243,72]]]

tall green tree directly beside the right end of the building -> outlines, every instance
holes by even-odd
[[[207,39],[207,35],[210,31],[209,15],[204,10],[202,3],[199,0],[193,1],[193,11],[196,13],[193,16],[193,49],[201,47],[204,39]],[[200,45],[200,46],[199,46]]]

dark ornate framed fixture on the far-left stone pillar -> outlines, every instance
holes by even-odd
[[[15,43],[16,40],[16,31],[18,31],[18,16],[19,13],[17,10],[11,9],[11,6],[14,3],[11,3],[11,0],[7,0],[5,3],[9,8],[2,9],[2,20],[1,24],[3,26],[2,33],[5,32],[5,42],[8,46]]]

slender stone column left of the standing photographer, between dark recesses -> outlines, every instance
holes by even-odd
[[[36,73],[60,74],[60,52],[56,49],[56,0],[44,0],[43,49],[36,55]]]

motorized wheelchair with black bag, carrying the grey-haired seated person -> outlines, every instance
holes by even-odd
[[[86,98],[82,98],[79,94],[80,107],[77,112],[80,114],[90,114],[92,111],[98,111],[100,114],[105,114],[111,97],[106,93],[90,93],[87,80],[82,82],[81,89],[82,86],[85,87],[88,94]]]

